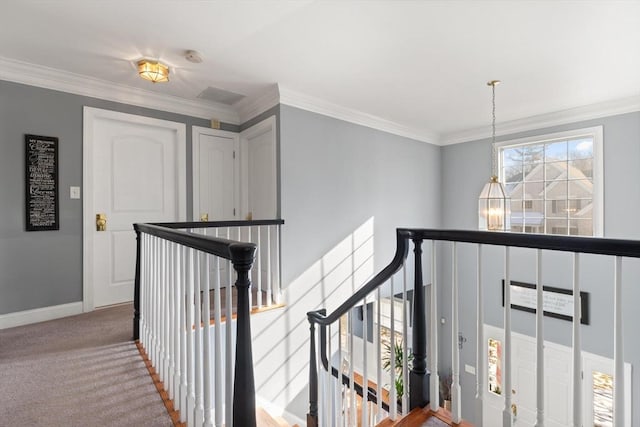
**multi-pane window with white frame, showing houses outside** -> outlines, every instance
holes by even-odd
[[[602,127],[498,144],[511,231],[602,236]]]

